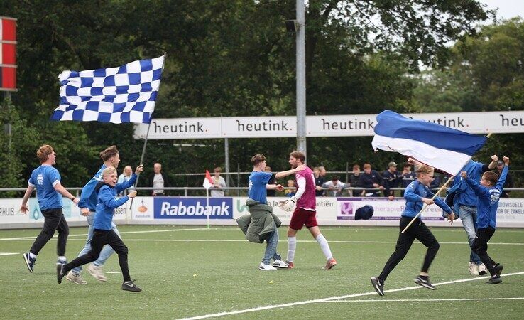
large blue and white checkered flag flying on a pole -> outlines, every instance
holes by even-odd
[[[165,56],[116,68],[62,71],[52,120],[149,123]]]

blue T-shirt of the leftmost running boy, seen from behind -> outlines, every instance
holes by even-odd
[[[60,183],[60,174],[53,166],[39,166],[33,170],[28,184],[36,188],[36,198],[38,198],[40,210],[63,207],[62,195],[55,190],[57,183]]]

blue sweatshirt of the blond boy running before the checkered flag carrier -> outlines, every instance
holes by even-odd
[[[94,214],[93,229],[111,230],[113,222],[114,209],[122,206],[129,200],[128,196],[116,198],[116,194],[124,191],[126,188],[133,186],[136,181],[136,174],[133,174],[128,181],[116,183],[111,187],[105,182],[97,184],[95,191],[98,192],[97,212]]]

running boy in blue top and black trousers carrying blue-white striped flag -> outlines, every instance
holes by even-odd
[[[371,277],[373,289],[375,289],[376,293],[380,296],[384,295],[384,282],[386,282],[388,274],[393,271],[393,269],[398,265],[398,262],[404,259],[415,239],[419,240],[422,242],[422,245],[427,247],[427,252],[420,274],[413,281],[422,287],[435,290],[435,287],[433,287],[430,282],[427,271],[430,268],[431,262],[435,259],[435,255],[437,255],[437,251],[440,247],[439,242],[437,242],[435,236],[431,233],[430,229],[426,227],[425,223],[420,220],[420,218],[417,218],[405,233],[402,233],[402,230],[404,230],[411,220],[415,218],[420,210],[422,210],[424,204],[430,206],[435,203],[437,206],[440,206],[440,208],[449,214],[448,220],[451,221],[451,223],[453,223],[455,216],[452,209],[449,208],[442,199],[438,197],[435,198],[435,201],[431,199],[434,194],[429,188],[427,188],[427,186],[429,186],[433,180],[433,168],[421,165],[417,168],[416,172],[417,180],[410,183],[408,188],[405,189],[405,209],[400,218],[400,233],[398,234],[395,252],[393,252],[393,255],[391,255],[388,262],[386,262],[386,265],[384,265],[381,274],[378,277]]]

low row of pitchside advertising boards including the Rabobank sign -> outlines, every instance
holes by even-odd
[[[289,225],[291,212],[278,207],[285,197],[269,197],[273,213]],[[80,209],[72,201],[64,198],[63,213],[68,222],[85,222]],[[234,219],[249,213],[246,197],[209,198],[210,222],[215,225],[236,225]],[[36,198],[28,201],[29,213],[20,212],[22,199],[0,199],[0,229],[25,228],[26,225],[43,223],[43,215],[38,208]],[[116,224],[168,224],[205,225],[207,224],[206,198],[202,197],[136,197],[131,208],[131,201],[116,208]],[[363,206],[372,206],[374,213],[370,220],[355,220],[356,210]],[[400,215],[405,208],[403,199],[388,201],[387,198],[317,198],[317,221],[320,225],[398,225]],[[442,210],[432,205],[422,213],[422,220],[427,225],[449,225],[442,218]],[[453,226],[461,226],[457,220]],[[501,198],[497,210],[497,226],[504,228],[524,228],[524,198]]]

